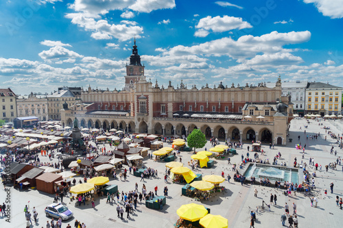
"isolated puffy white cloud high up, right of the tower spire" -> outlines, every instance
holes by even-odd
[[[196,25],[197,29],[204,29],[204,30],[212,30],[214,32],[223,32],[223,31],[230,31],[233,29],[246,29],[251,28],[252,26],[243,21],[242,18],[237,18],[234,16],[206,16],[205,18],[201,18],[198,25]]]

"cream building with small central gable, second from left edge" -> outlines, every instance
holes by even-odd
[[[36,116],[39,121],[47,121],[49,115],[47,112],[47,98],[36,97],[33,93],[29,94],[27,98],[16,100],[18,117]]]

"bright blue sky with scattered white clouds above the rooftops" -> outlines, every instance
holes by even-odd
[[[137,40],[147,80],[166,88],[343,82],[341,0],[4,0],[0,84],[121,90]]]

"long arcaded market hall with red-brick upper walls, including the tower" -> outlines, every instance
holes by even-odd
[[[72,126],[77,118],[81,127],[179,136],[187,136],[198,128],[206,137],[214,136],[220,140],[262,140],[268,136],[270,142],[285,144],[288,112],[277,116],[275,110],[267,107],[269,112],[256,112],[263,114],[265,120],[255,114],[252,120],[244,118],[244,108],[249,103],[276,105],[280,101],[280,77],[273,88],[263,84],[224,86],[220,83],[215,88],[206,85],[198,89],[196,86],[187,88],[182,81],[177,88],[171,85],[171,81],[164,88],[158,86],[157,81],[153,85],[145,79],[140,63],[134,44],[130,65],[126,66],[126,89],[94,90],[89,87],[82,90],[83,103],[61,110],[62,124]],[[292,110],[292,105],[289,108]],[[274,118],[279,119],[277,124]]]

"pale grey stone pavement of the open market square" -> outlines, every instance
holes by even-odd
[[[308,128],[306,129],[307,134],[311,136],[312,134],[318,134],[320,132],[320,137],[318,140],[306,140],[307,134],[304,134],[305,120],[293,120],[289,129],[289,138],[293,139],[293,142],[288,142],[287,145],[283,147],[275,147],[275,149],[269,149],[267,144],[263,145],[263,150],[266,151],[266,155],[262,155],[262,159],[269,158],[272,160],[274,155],[279,151],[282,154],[283,159],[281,161],[287,162],[287,165],[292,164],[294,157],[297,158],[298,162],[301,162],[301,153],[295,149],[295,144],[301,142],[302,145],[307,144],[307,150],[305,151],[305,159],[303,162],[309,164],[309,157],[314,157],[315,162],[322,165],[322,171],[318,171],[318,177],[316,178],[316,196],[318,197],[318,207],[311,207],[309,197],[305,197],[303,194],[298,193],[296,196],[285,197],[281,190],[274,190],[274,188],[269,188],[265,186],[241,186],[240,183],[228,183],[226,180],[222,183],[227,190],[225,192],[216,192],[209,201],[203,201],[202,203],[205,207],[211,209],[211,214],[220,214],[225,218],[228,218],[229,227],[249,227],[250,226],[250,209],[255,209],[257,206],[261,206],[262,201],[269,202],[270,193],[277,194],[278,201],[277,205],[272,205],[271,211],[259,210],[257,213],[257,222],[255,227],[281,227],[280,216],[284,212],[283,206],[285,203],[292,205],[296,203],[297,214],[300,227],[321,227],[323,225],[329,225],[330,227],[341,227],[340,216],[342,216],[343,211],[340,210],[335,205],[335,196],[338,195],[342,197],[343,195],[343,172],[342,166],[338,166],[338,170],[329,170],[329,172],[324,171],[324,166],[329,164],[329,162],[334,162],[337,156],[342,156],[342,150],[338,149],[335,140],[327,134],[327,140],[324,140],[325,130],[322,128],[324,125],[331,127],[331,131],[335,134],[342,134],[343,124],[341,121],[322,121],[323,125],[318,125],[314,120],[310,121]],[[302,129],[300,130],[300,126]],[[300,141],[298,140],[300,136]],[[231,157],[231,163],[239,163],[241,160],[241,155],[246,156],[246,147],[251,143],[246,143],[243,149],[238,149],[238,155]],[[167,144],[166,144],[167,146]],[[338,155],[331,155],[329,153],[331,146],[334,146],[338,151]],[[107,149],[110,149],[106,145]],[[208,142],[205,146],[207,149],[211,148],[211,144]],[[200,149],[198,149],[200,151]],[[250,153],[251,154],[251,153]],[[191,160],[191,152],[182,152],[179,157],[182,157],[182,162],[185,166],[188,166],[187,162]],[[40,155],[39,155],[40,156]],[[48,161],[47,157],[40,157],[41,161]],[[57,160],[54,160],[55,162]],[[200,168],[194,173],[202,173],[202,175],[216,174],[220,175],[222,170],[224,170],[225,176],[230,173],[231,165],[228,165],[227,160],[215,160],[217,163],[213,168]],[[105,197],[99,197],[95,199],[95,209],[91,208],[91,203],[86,203],[86,205],[81,205],[76,207],[74,202],[70,202],[69,199],[64,197],[64,202],[73,211],[74,218],[63,222],[62,227],[67,227],[70,223],[73,227],[75,219],[80,220],[85,223],[87,227],[174,227],[174,223],[178,219],[176,210],[182,204],[194,202],[193,199],[181,196],[181,184],[164,183],[163,175],[165,173],[165,163],[154,162],[153,160],[144,160],[145,166],[156,168],[158,170],[159,178],[156,179],[145,179],[144,183],[147,186],[147,190],[153,190],[154,186],[158,186],[158,195],[163,194],[164,186],[169,188],[169,197],[167,198],[167,205],[163,207],[163,210],[151,210],[147,209],[145,205],[139,203],[137,210],[134,214],[130,215],[130,218],[126,218],[124,214],[124,220],[117,218],[117,212],[115,207],[117,203],[106,203]],[[189,167],[189,166],[188,166]],[[314,170],[313,166],[309,166],[309,170],[312,173]],[[243,170],[241,170],[242,172]],[[81,177],[75,177],[77,180]],[[299,180],[303,179],[303,174],[299,172]],[[330,193],[329,183],[335,184],[334,194]],[[110,179],[110,184],[115,183],[119,186],[119,191],[128,192],[129,190],[134,190],[134,183],[139,184],[139,190],[141,190],[143,182],[140,181],[139,177],[134,177],[133,175],[128,175],[127,181],[119,181]],[[254,188],[257,188],[257,197],[254,197]],[[324,188],[327,188],[328,194],[324,196]],[[5,218],[0,216],[0,226],[1,227],[25,227],[25,215],[23,208],[29,201],[29,207],[36,207],[38,211],[38,224],[32,227],[45,227],[45,223],[50,218],[47,218],[44,214],[44,209],[46,205],[52,203],[53,196],[50,194],[45,194],[43,192],[38,192],[34,189],[25,190],[19,192],[11,188],[11,223],[5,223]],[[5,199],[5,191],[3,188],[0,190],[0,203],[2,204]],[[200,203],[200,202],[196,202]],[[120,204],[121,205],[121,204]],[[292,210],[290,210],[292,212]],[[287,223],[286,223],[287,224]]]

